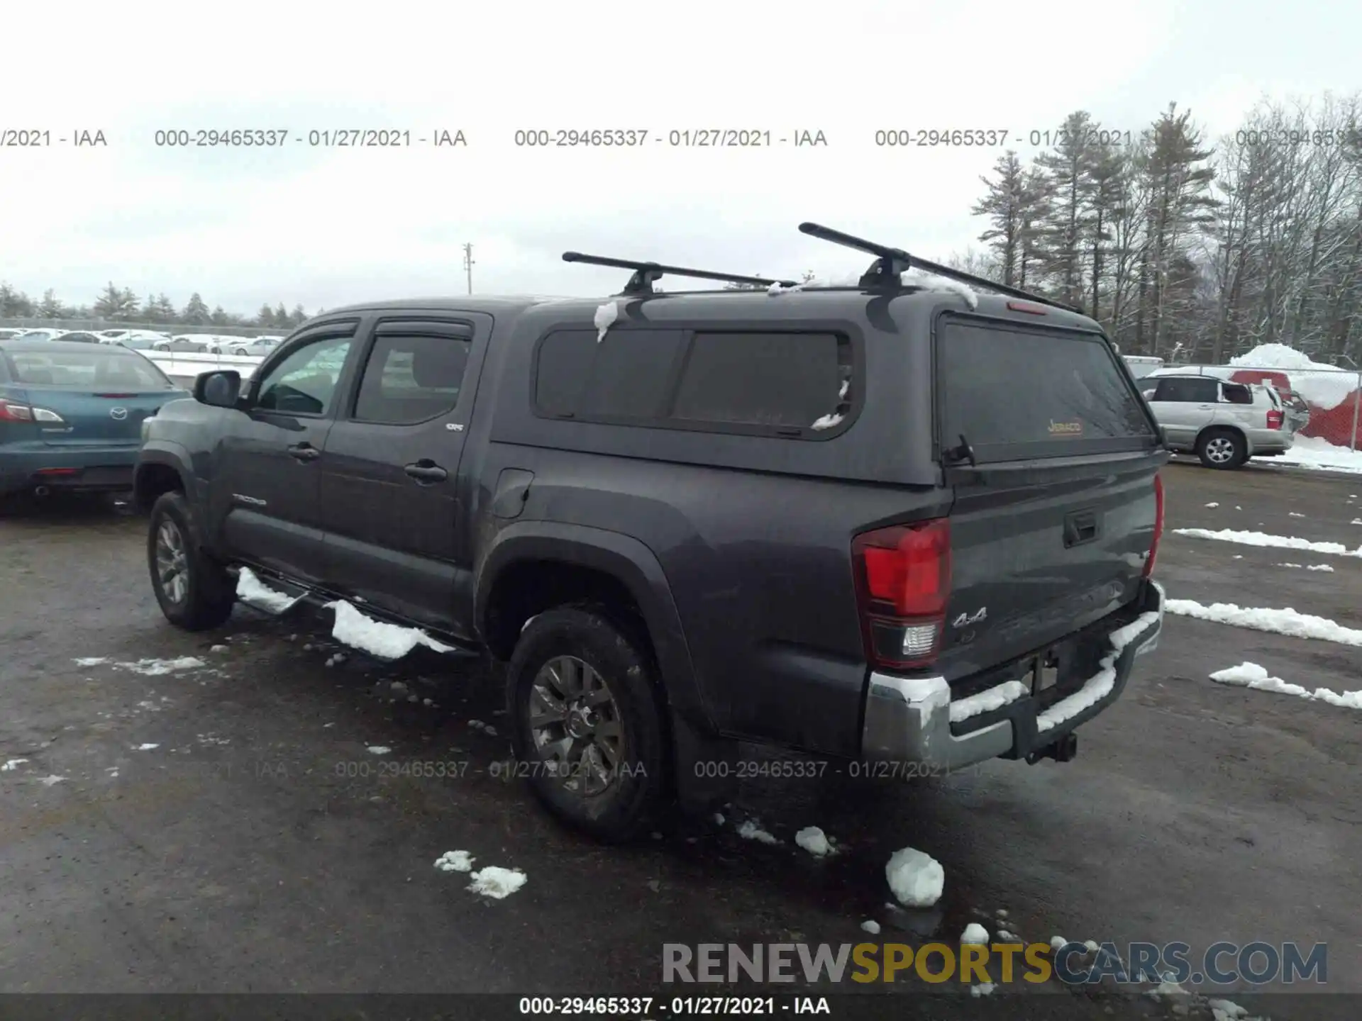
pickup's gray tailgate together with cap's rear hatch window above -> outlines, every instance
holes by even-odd
[[[959,678],[1139,595],[1167,455],[1098,334],[948,317],[936,350],[944,459],[957,461],[938,663]]]

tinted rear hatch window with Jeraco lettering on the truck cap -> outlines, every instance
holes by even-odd
[[[1091,334],[947,317],[937,339],[941,442],[977,460],[1140,449],[1155,440],[1117,355]]]

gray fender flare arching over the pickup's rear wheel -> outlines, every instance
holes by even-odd
[[[501,573],[524,561],[558,561],[591,568],[618,580],[643,611],[652,651],[662,671],[669,708],[701,731],[715,732],[700,696],[695,663],[681,626],[681,614],[656,554],[621,532],[560,521],[515,521],[479,557],[474,583],[474,621],[488,633],[492,589]]]

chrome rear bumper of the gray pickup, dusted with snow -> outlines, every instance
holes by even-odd
[[[1135,619],[1113,623],[1107,632],[1098,672],[1077,692],[1043,711],[1035,698],[1023,694],[996,709],[952,723],[951,686],[945,678],[872,672],[861,735],[862,757],[949,772],[989,758],[1024,758],[1056,743],[1121,697],[1136,658],[1158,648],[1163,603],[1163,588],[1155,581],[1145,583]],[[1005,697],[1001,690],[998,697]]]

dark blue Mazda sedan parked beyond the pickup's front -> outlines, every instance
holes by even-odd
[[[0,498],[132,489],[143,419],[188,396],[124,347],[0,340]]]

